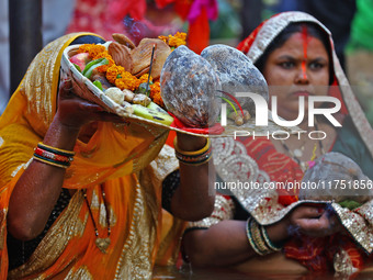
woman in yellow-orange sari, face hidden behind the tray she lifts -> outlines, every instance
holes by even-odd
[[[77,33],[47,45],[0,119],[1,279],[147,279],[179,243],[161,236],[162,204],[191,221],[213,210],[207,160],[178,171],[167,130],[124,121],[59,83],[63,51],[100,41]],[[178,134],[181,154],[208,143]],[[38,157],[48,153],[54,160]]]

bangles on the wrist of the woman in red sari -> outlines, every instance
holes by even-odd
[[[252,217],[247,220],[246,235],[252,249],[260,256],[279,251],[282,247],[274,245],[268,237],[265,227],[259,225]]]

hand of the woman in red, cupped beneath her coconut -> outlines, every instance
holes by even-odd
[[[326,209],[301,205],[290,215],[290,234],[299,231],[302,234],[323,237],[341,232],[343,226],[337,215]]]

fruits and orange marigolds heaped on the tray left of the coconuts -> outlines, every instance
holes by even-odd
[[[159,77],[167,57],[185,44],[185,37],[178,32],[174,36],[143,38],[136,46],[125,35],[113,34],[114,42],[80,45],[69,61],[126,113],[169,125],[173,117],[161,109]]]

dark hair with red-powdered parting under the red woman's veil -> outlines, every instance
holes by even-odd
[[[267,63],[267,59],[269,55],[276,48],[282,47],[283,44],[294,34],[303,31],[303,27],[307,27],[307,34],[312,37],[318,38],[321,41],[325,49],[328,53],[330,66],[329,66],[329,85],[332,83],[334,79],[334,67],[332,67],[332,56],[331,56],[331,46],[330,46],[330,40],[328,34],[321,30],[320,26],[318,26],[315,23],[310,22],[292,22],[289,24],[267,47],[264,53],[259,57],[259,59],[255,63],[257,68],[263,72],[264,65]]]

